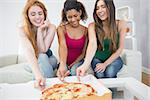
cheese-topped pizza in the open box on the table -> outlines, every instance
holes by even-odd
[[[41,100],[76,100],[95,94],[96,91],[89,84],[62,83],[42,91]]]

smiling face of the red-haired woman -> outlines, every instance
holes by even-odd
[[[39,27],[44,23],[44,12],[43,9],[39,6],[32,6],[28,11],[28,17],[30,22],[35,26]]]

